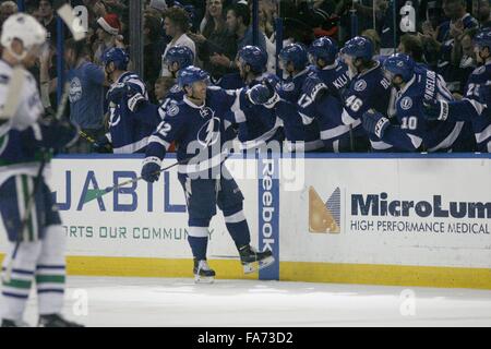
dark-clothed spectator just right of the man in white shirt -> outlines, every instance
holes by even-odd
[[[236,38],[227,31],[223,0],[206,2],[206,14],[202,23],[204,23],[202,34],[190,34],[190,37],[197,45],[197,55],[203,62],[203,69],[217,81],[232,70],[228,67],[213,64],[211,57],[225,55],[231,61],[237,55]]]

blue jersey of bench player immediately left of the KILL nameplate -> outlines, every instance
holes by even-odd
[[[299,100],[303,95],[304,82],[312,73],[304,69],[295,76],[289,76],[280,84],[278,95],[280,100],[276,104],[276,115],[282,119],[287,149],[290,152],[313,152],[323,148],[320,130],[316,122],[303,120],[300,113]]]

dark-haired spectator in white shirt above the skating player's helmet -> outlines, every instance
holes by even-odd
[[[169,48],[172,46],[187,46],[193,51],[194,57],[196,57],[196,46],[194,41],[187,35],[190,28],[190,19],[185,10],[173,7],[168,9],[164,14],[164,27],[166,34],[171,37],[169,44],[161,56],[161,76],[170,76],[170,72],[164,62],[164,57],[166,56]]]

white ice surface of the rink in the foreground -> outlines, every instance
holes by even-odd
[[[87,326],[491,326],[487,290],[69,277],[65,298],[67,317]],[[36,304],[33,293],[31,324]]]

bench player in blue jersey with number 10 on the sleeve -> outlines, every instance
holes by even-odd
[[[452,100],[443,79],[435,72],[416,67],[404,53],[388,57],[383,64],[385,76],[397,89],[395,116],[398,125],[381,112],[369,110],[363,115],[363,128],[395,151],[463,152],[469,151],[470,129],[464,121],[427,121],[423,100]]]

